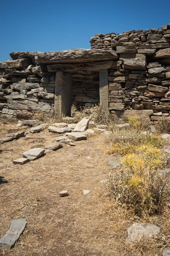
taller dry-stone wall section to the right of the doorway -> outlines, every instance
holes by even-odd
[[[97,34],[91,48],[113,49],[119,55],[109,70],[109,110],[152,110],[152,120],[169,116],[170,24],[161,29]]]

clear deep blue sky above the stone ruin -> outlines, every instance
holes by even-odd
[[[0,61],[14,51],[90,48],[96,33],[160,28],[169,0],[1,0]]]

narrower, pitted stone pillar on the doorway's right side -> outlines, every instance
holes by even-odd
[[[99,93],[102,111],[109,111],[108,70],[99,70]]]

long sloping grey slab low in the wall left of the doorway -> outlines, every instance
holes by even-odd
[[[8,108],[17,109],[17,110],[30,110],[42,112],[50,112],[51,106],[46,102],[32,102],[30,100],[8,100]]]

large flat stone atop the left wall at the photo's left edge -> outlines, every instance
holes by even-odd
[[[0,62],[0,69],[28,67],[30,64],[31,64],[31,59],[29,58],[3,61],[3,62]]]

